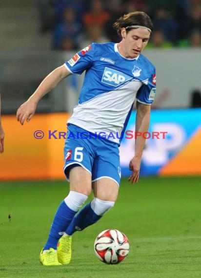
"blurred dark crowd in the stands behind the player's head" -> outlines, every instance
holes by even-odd
[[[201,47],[201,0],[39,0],[40,32],[51,32],[55,50],[119,42],[112,25],[133,11],[153,20],[148,48]]]

